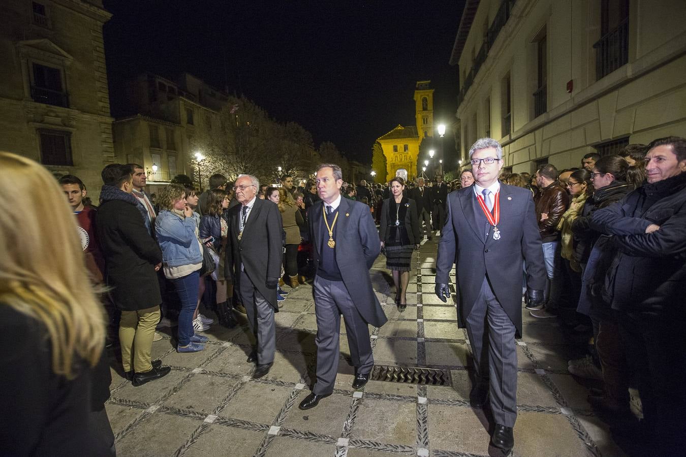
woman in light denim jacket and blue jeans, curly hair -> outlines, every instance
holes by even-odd
[[[158,203],[160,212],[155,221],[155,232],[162,249],[162,268],[165,277],[174,284],[181,302],[176,351],[202,351],[208,338],[196,334],[193,329],[202,267],[202,245],[193,210],[188,206],[186,190],[180,184],[169,184],[163,188],[158,195]]]

